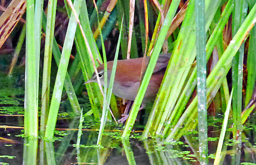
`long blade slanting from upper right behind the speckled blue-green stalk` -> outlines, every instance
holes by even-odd
[[[253,6],[251,12],[246,17],[245,21],[242,23],[241,27],[239,28],[237,34],[234,36],[232,41],[230,42],[229,46],[225,50],[224,54],[222,55],[221,59],[215,66],[215,68],[210,73],[209,77],[207,78],[207,95],[210,94],[213,89],[216,91],[218,85],[220,86],[223,78],[226,76],[228,70],[231,67],[231,61],[233,56],[238,51],[240,45],[244,41],[244,39],[248,36],[249,31],[252,29],[254,23],[256,22],[256,5]],[[218,85],[217,85],[218,84]],[[211,96],[214,96],[214,94]],[[173,128],[170,135],[166,138],[166,141],[174,138],[177,130],[180,129],[182,123],[185,121],[188,114],[190,114],[195,106],[197,105],[197,97],[190,103],[184,114],[181,116],[179,122],[177,122],[176,126]]]

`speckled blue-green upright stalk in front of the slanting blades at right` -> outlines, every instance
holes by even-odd
[[[206,50],[205,50],[205,3],[195,0],[197,43],[197,97],[200,164],[208,164],[207,142],[207,95],[206,95]]]

